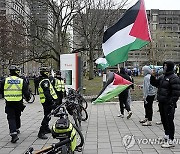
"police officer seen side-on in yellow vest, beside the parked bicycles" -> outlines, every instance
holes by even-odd
[[[55,106],[55,101],[57,100],[57,95],[49,80],[49,72],[50,70],[47,67],[42,67],[40,69],[41,77],[38,91],[40,102],[44,109],[44,118],[41,122],[41,127],[38,133],[38,137],[41,139],[47,139],[48,137],[46,136],[46,134],[51,133],[51,130],[49,128],[49,121],[51,120],[51,118],[47,115],[51,113],[51,110]]]

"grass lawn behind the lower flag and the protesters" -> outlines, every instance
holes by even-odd
[[[135,90],[131,90],[131,97],[132,100],[142,100],[143,93],[142,89],[140,89],[136,85],[142,85],[143,84],[143,77],[134,77],[134,83],[135,83]],[[88,80],[87,78],[83,79],[83,87],[86,88],[84,95],[91,96],[91,95],[98,95],[103,87],[102,77],[95,77],[93,80]],[[117,101],[117,98],[114,98],[110,101]]]

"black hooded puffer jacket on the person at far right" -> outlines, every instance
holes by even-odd
[[[167,70],[159,78],[151,75],[151,85],[158,88],[157,100],[159,103],[175,105],[180,96],[180,79],[174,74],[172,62],[165,62]]]

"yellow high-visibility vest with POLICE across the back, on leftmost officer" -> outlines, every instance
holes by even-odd
[[[4,98],[6,101],[18,102],[22,97],[23,79],[17,76],[10,76],[5,79]]]

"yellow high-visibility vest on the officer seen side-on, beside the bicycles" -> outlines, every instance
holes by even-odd
[[[40,97],[40,102],[41,102],[41,103],[44,103],[44,102],[45,102],[44,91],[43,91],[43,89],[42,89],[42,87],[41,87],[41,83],[42,83],[43,81],[45,81],[45,80],[47,80],[47,81],[49,82],[49,84],[50,84],[50,87],[49,87],[49,88],[50,88],[50,94],[51,94],[51,96],[52,96],[54,99],[57,99],[56,92],[55,92],[55,90],[54,90],[51,82],[49,81],[49,79],[43,79],[43,80],[41,80],[41,82],[39,83],[39,88],[38,88],[39,97]]]

